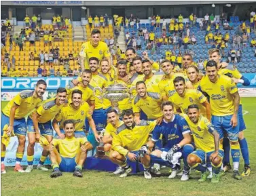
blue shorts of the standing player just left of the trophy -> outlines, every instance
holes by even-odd
[[[104,112],[103,109],[97,109],[93,111],[92,119],[96,125],[96,130],[105,129],[107,125],[107,113]],[[90,128],[88,119],[86,119],[86,130],[88,131]]]

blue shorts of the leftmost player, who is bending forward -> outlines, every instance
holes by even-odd
[[[3,136],[3,128],[5,125],[9,126],[10,118],[1,113],[1,136]],[[14,119],[14,134],[26,136],[26,119]]]

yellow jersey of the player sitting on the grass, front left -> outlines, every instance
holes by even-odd
[[[52,145],[54,145],[62,157],[73,158],[79,152],[81,145],[84,145],[88,140],[84,138],[65,138],[65,139],[53,139]]]

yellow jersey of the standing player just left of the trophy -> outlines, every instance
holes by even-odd
[[[95,87],[100,87],[102,90],[104,87],[107,87],[108,81],[107,78],[102,75],[101,73],[98,73],[98,75],[92,75],[92,79],[90,80],[90,85]],[[97,96],[100,95],[100,92],[96,91],[95,95],[95,109],[102,109],[103,108],[103,100],[99,99]]]

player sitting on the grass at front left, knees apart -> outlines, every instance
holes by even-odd
[[[73,176],[83,177],[81,169],[87,157],[87,152],[92,150],[92,144],[86,137],[75,138],[75,122],[68,119],[63,122],[65,139],[53,139],[45,146],[50,152],[52,162],[51,178],[62,176],[62,172],[73,172]],[[57,150],[58,149],[58,150]]]

